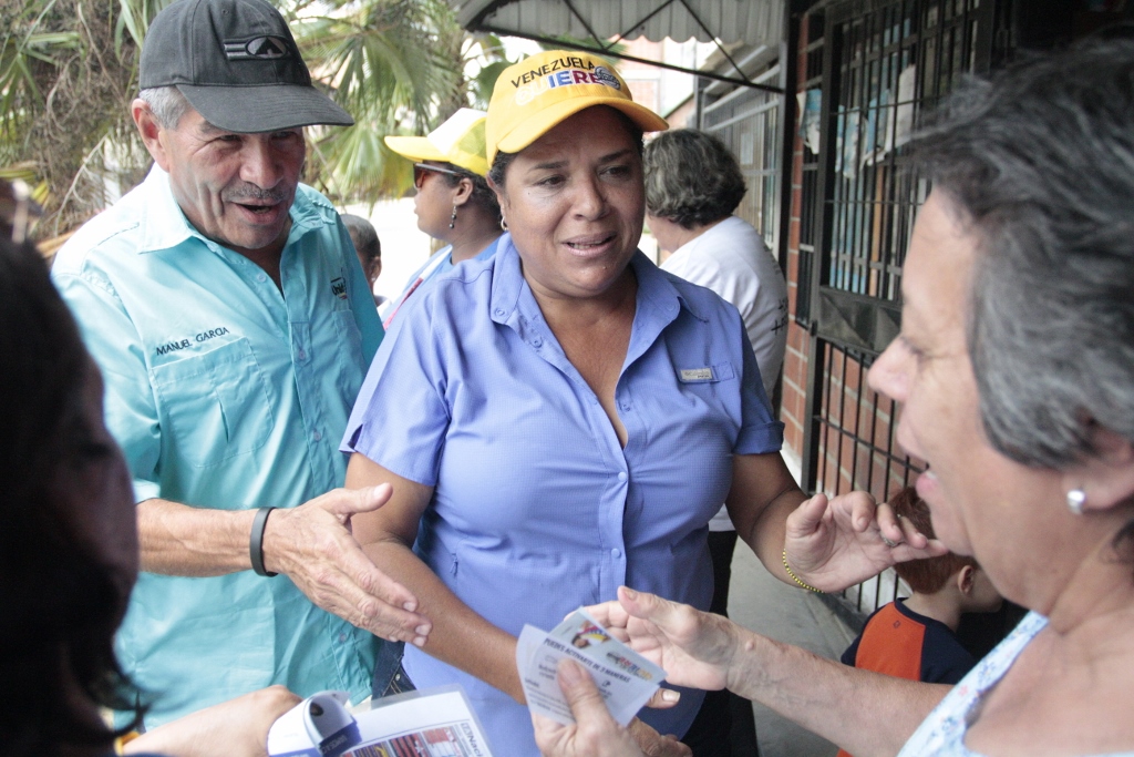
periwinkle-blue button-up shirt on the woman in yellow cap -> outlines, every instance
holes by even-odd
[[[492,260],[438,278],[379,350],[344,439],[434,487],[415,552],[463,602],[518,634],[613,599],[619,584],[706,608],[706,524],[733,455],[780,448],[736,309],[638,253],[618,443],[521,271],[510,235]],[[538,755],[527,708],[406,648],[414,683],[460,683],[496,754]],[[684,733],[701,697],[644,714]]]

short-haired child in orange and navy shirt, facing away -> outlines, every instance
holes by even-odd
[[[890,497],[895,515],[936,539],[929,506],[909,486]],[[957,683],[976,658],[957,639],[964,613],[993,613],[1002,603],[988,573],[972,557],[951,552],[894,566],[909,597],[879,607],[845,653],[852,667],[925,683]],[[849,752],[839,751],[840,757]]]

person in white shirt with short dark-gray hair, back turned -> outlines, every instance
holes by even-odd
[[[644,162],[646,224],[670,252],[661,270],[712,289],[741,311],[771,399],[787,347],[787,284],[760,232],[733,215],[747,192],[741,166],[718,137],[689,128],[651,140]],[[736,540],[721,505],[709,521],[714,580],[709,612],[726,617]],[[699,717],[711,718],[699,725],[731,734],[731,754],[754,752],[755,721],[747,701],[728,691],[710,692]]]

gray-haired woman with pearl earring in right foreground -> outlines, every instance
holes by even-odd
[[[625,589],[595,619],[670,682],[727,687],[855,755],[1134,755],[1132,113],[1119,27],[968,84],[917,142],[932,191],[870,385],[903,405],[938,538],[1031,609],[968,675],[849,668]],[[581,668],[560,683],[578,724],[538,721],[544,754],[641,754]]]

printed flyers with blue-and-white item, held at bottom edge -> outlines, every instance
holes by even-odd
[[[269,757],[492,757],[459,685],[372,700],[350,713],[345,691],[322,691],[268,732]]]

